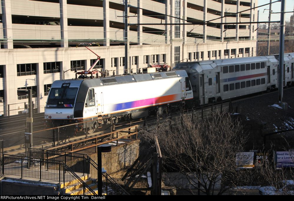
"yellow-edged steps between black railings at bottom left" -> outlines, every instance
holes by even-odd
[[[89,188],[91,188],[96,194],[98,194],[98,188],[95,183],[91,179],[88,179],[88,176],[80,177],[85,184]],[[64,184],[61,184],[62,192],[64,195],[94,195],[87,188],[84,188],[83,183],[80,183],[78,179],[74,179]],[[84,193],[85,191],[85,193]],[[102,195],[106,195],[106,193],[102,193]]]

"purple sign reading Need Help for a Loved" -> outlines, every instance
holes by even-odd
[[[276,151],[276,168],[293,168],[294,151]]]

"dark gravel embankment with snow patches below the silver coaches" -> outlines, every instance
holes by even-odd
[[[242,124],[249,122],[264,125],[264,133],[258,134],[250,130],[250,149],[261,147],[263,144],[263,134],[277,132],[281,130],[294,129],[294,88],[284,90],[283,102],[288,103],[287,111],[280,108],[278,102],[278,91],[273,94],[266,94],[257,98],[251,98],[245,101],[233,103],[233,107],[241,108],[240,118]],[[238,109],[237,112],[240,110]],[[277,149],[288,149],[294,147],[294,131],[281,134],[274,134],[267,137],[267,146],[273,143]]]

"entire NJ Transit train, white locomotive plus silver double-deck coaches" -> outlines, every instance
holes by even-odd
[[[45,119],[50,126],[148,116],[278,87],[277,56],[178,63],[173,71],[54,81]],[[293,85],[294,53],[284,57],[284,86]],[[83,126],[86,127],[86,124]]]

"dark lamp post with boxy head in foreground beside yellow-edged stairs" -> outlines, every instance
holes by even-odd
[[[102,144],[102,145],[97,146],[98,195],[102,195],[102,156],[101,155],[102,155],[102,153],[110,152],[110,151],[111,151],[110,144]]]

